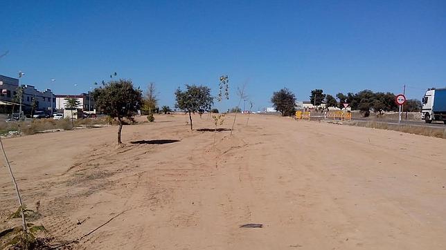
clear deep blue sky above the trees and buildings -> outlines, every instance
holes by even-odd
[[[111,73],[173,106],[184,84],[229,101],[247,83],[255,110],[275,90],[402,92],[446,86],[446,1],[1,1],[0,75],[56,94],[86,92]],[[56,79],[51,83],[51,78]],[[77,84],[75,86],[74,84]]]

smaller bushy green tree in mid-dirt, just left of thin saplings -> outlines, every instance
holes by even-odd
[[[204,112],[204,110],[211,109],[213,97],[211,96],[211,88],[206,86],[196,86],[186,84],[186,90],[180,88],[175,91],[175,98],[177,103],[176,108],[180,108],[189,113],[190,130],[193,130],[192,115],[190,113]]]

